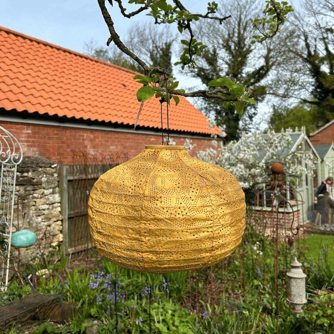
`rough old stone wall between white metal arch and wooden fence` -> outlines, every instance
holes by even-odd
[[[17,167],[12,231],[17,230],[19,222],[19,229],[28,229],[37,236],[34,246],[20,248],[20,257],[24,261],[40,253],[47,254],[50,245],[59,249],[63,240],[58,169],[51,160],[32,156],[24,156]]]

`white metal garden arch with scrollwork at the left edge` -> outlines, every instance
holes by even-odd
[[[22,161],[22,148],[17,139],[0,126],[0,281],[8,284],[9,257],[17,165]]]

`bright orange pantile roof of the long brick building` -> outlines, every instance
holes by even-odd
[[[0,27],[0,108],[133,125],[142,85],[131,70]],[[167,128],[166,104],[163,104]],[[139,126],[161,128],[160,103],[144,103]],[[175,131],[217,133],[185,98],[169,108]]]

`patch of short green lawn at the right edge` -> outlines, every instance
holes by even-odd
[[[315,261],[318,262],[319,253],[322,250],[322,245],[324,245],[327,249],[328,245],[328,256],[327,261],[328,264],[334,269],[334,235],[326,235],[326,234],[309,234],[305,239],[305,247],[306,247],[306,257],[313,258]],[[302,240],[301,240],[302,245]]]

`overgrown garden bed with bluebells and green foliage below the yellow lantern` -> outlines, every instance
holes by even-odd
[[[309,237],[305,239],[306,245]],[[247,225],[241,258],[230,256],[212,268],[190,273],[191,299],[188,272],[139,273],[118,267],[96,254],[72,259],[69,264],[65,259],[54,264],[50,255],[50,269],[64,279],[64,301],[78,304],[77,311],[64,326],[37,321],[17,326],[12,332],[8,329],[7,334],[85,333],[87,327],[90,329],[86,333],[91,333],[94,327],[101,334],[222,334],[227,329],[274,334],[277,313],[279,333],[332,333],[334,272],[326,263],[330,250],[318,245],[320,258],[308,258],[307,251],[307,260],[301,252],[300,262],[307,274],[308,304],[297,319],[286,303],[286,271],[278,272],[276,303],[275,271],[270,269],[274,267],[272,242],[272,238],[256,237],[253,226]],[[303,244],[302,238],[299,242]],[[264,249],[265,263],[260,256]],[[279,242],[280,268],[290,269],[293,251],[294,244]],[[240,253],[239,247],[236,253]],[[51,285],[42,282],[38,289],[46,293]],[[212,296],[219,298],[213,300]]]

